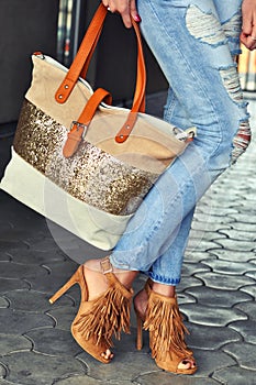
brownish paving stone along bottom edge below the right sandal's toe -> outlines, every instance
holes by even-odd
[[[219,382],[215,382],[214,380],[207,378],[207,377],[196,377],[193,376],[181,376],[181,375],[175,375],[167,372],[157,372],[157,373],[147,373],[144,375],[138,376],[137,378],[138,384],[141,385],[216,385],[220,384]]]

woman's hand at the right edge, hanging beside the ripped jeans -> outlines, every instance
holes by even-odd
[[[241,42],[246,48],[256,48],[256,0],[244,0],[242,4],[243,25]]]

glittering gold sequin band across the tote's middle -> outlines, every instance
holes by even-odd
[[[73,197],[113,215],[133,213],[157,179],[82,141],[70,158],[63,156],[67,129],[24,100],[14,150]]]

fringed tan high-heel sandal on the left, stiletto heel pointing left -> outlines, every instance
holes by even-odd
[[[71,278],[52,297],[54,304],[73,285],[81,289],[81,302],[71,324],[71,333],[77,343],[96,360],[109,363],[111,358],[102,356],[111,346],[112,336],[120,339],[121,331],[130,332],[130,309],[133,290],[126,289],[112,273],[109,258],[101,261],[102,273],[108,278],[109,288],[93,300],[88,300],[88,287],[84,266],[79,266]]]

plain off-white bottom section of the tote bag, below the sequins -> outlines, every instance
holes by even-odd
[[[74,198],[26,163],[12,147],[0,188],[101,250],[114,248],[130,216],[114,216]]]

